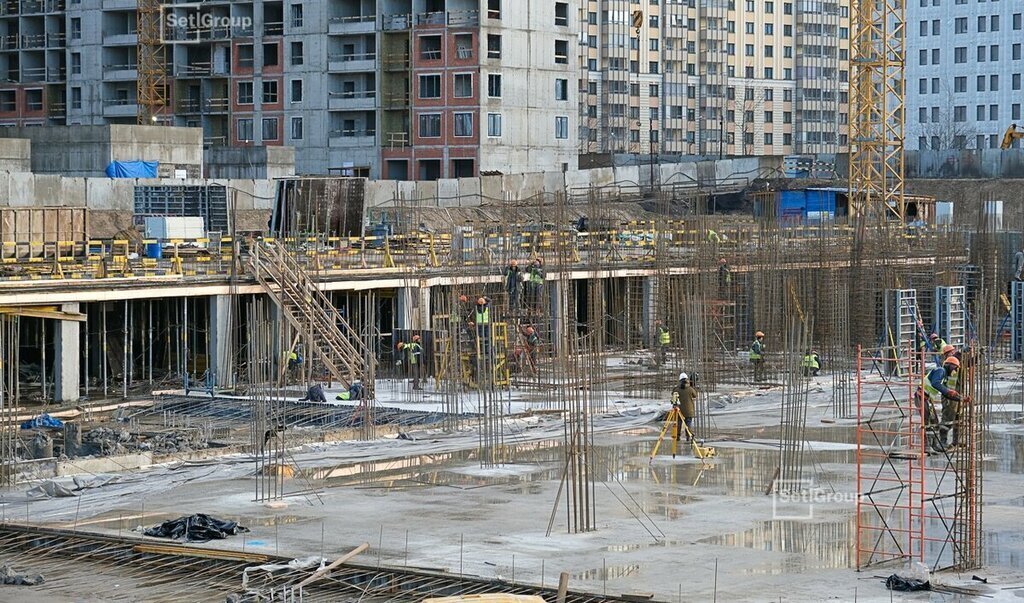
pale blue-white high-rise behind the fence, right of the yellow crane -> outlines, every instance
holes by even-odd
[[[912,0],[906,12],[906,147],[998,148],[1024,103],[1024,6]]]

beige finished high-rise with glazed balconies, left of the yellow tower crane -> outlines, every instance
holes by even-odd
[[[582,0],[581,14],[582,153],[845,150],[847,3]]]

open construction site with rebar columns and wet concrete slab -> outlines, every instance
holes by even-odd
[[[954,596],[1020,588],[1019,216],[981,195],[955,224],[922,197],[871,213],[865,189],[778,168],[707,176],[728,165],[659,166],[694,170],[663,171],[674,186],[632,168],[386,203],[358,178],[139,180],[127,216],[95,179],[82,207],[4,208],[0,559],[44,580],[0,589],[881,599],[887,576],[923,572]],[[935,445],[921,394],[933,333],[961,362],[941,425],[956,445]],[[692,443],[665,423],[680,373]],[[244,527],[160,537],[194,514]]]

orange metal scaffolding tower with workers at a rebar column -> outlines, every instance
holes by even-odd
[[[919,390],[932,354],[857,350],[857,567],[920,561],[932,570],[981,562],[981,421],[977,352],[962,358],[958,445],[936,449]],[[939,412],[939,408],[936,408]]]

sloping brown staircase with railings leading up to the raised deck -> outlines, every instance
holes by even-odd
[[[259,243],[252,248],[250,267],[283,316],[308,341],[307,355],[346,387],[361,379],[372,395],[368,363],[373,355],[295,257],[276,244]]]

